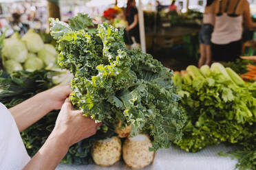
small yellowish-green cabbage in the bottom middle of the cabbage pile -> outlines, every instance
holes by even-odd
[[[25,71],[36,71],[43,68],[43,61],[40,58],[30,57],[25,61]]]

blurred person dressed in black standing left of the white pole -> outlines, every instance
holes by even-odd
[[[126,43],[133,44],[131,37],[134,37],[136,42],[140,43],[140,30],[138,25],[138,10],[136,8],[135,0],[127,0],[127,9],[125,16],[128,21],[128,26],[125,28],[127,32]]]

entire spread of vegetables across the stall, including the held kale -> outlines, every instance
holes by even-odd
[[[126,49],[122,29],[103,23],[92,32],[85,14],[70,23],[50,22],[58,52],[32,30],[22,38],[0,38],[0,102],[10,108],[72,80],[74,108],[102,125],[72,145],[63,163],[111,166],[122,158],[141,169],[158,149],[175,145],[196,152],[225,143],[237,149],[220,156],[237,158],[240,170],[256,170],[255,57],[225,64],[232,69],[213,63],[173,75],[149,54]],[[61,69],[72,74],[56,71],[56,56]],[[30,156],[52,132],[58,112],[21,132]]]

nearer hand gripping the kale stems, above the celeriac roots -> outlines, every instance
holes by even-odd
[[[67,147],[70,147],[83,138],[96,134],[99,125],[93,119],[84,117],[81,111],[74,110],[70,100],[65,99],[52,133],[61,136]]]

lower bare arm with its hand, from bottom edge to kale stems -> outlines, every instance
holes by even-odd
[[[66,99],[54,130],[23,170],[55,169],[67,154],[68,148],[95,134],[98,125],[94,120],[84,117],[81,111],[73,110],[70,100]]]

